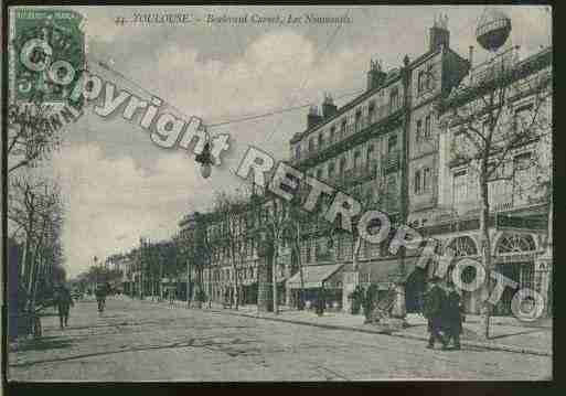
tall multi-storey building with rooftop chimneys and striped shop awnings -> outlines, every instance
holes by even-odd
[[[388,72],[372,61],[365,93],[341,108],[327,97],[321,115],[311,109],[307,130],[290,140],[292,164],[355,196],[365,207],[386,212],[394,223],[407,222],[409,213],[432,211],[438,205],[440,169],[434,106],[468,69],[469,62],[450,49],[446,21],[435,22],[423,55],[413,61],[405,56],[401,67]],[[342,300],[348,304],[346,295],[357,283],[349,276],[353,237],[305,232],[302,263],[341,264]],[[384,246],[365,243],[359,263],[359,282],[382,288],[391,286],[399,269],[399,259]],[[416,258],[406,257],[403,263],[408,275]]]

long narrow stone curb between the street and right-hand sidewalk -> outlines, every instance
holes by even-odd
[[[282,319],[282,318],[270,318],[270,317],[264,317],[259,314],[250,314],[250,313],[244,313],[244,312],[226,312],[218,309],[207,309],[209,312],[218,312],[224,314],[231,314],[235,317],[247,317],[247,318],[255,318],[255,319],[264,319],[264,320],[270,320],[274,322],[285,322],[285,323],[292,323],[292,324],[301,324],[301,325],[310,325],[314,328],[322,328],[322,329],[329,329],[329,330],[346,330],[346,331],[356,331],[360,333],[367,333],[367,334],[382,334],[382,335],[389,335],[389,336],[396,336],[399,339],[412,339],[412,340],[420,340],[420,341],[427,341],[428,339],[420,335],[415,334],[399,334],[399,333],[391,333],[391,332],[383,332],[377,330],[371,330],[371,329],[360,329],[360,328],[352,328],[348,325],[340,325],[340,324],[327,324],[327,323],[312,323],[312,322],[306,322],[301,320],[295,320],[295,319]],[[512,346],[512,345],[503,345],[503,344],[491,344],[491,343],[481,343],[481,342],[473,342],[473,341],[461,341],[461,345],[464,346],[473,346],[473,347],[480,347],[483,350],[490,350],[490,351],[503,351],[503,352],[512,352],[512,353],[522,353],[522,354],[530,354],[530,355],[537,355],[537,356],[553,356],[551,352],[547,351],[541,351],[530,347],[522,347],[522,346]]]

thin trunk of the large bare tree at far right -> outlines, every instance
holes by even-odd
[[[487,165],[487,160],[485,164]],[[481,190],[481,214],[480,214],[480,246],[481,246],[481,255],[482,255],[482,265],[485,271],[485,285],[484,288],[488,292],[491,290],[491,243],[489,235],[489,216],[490,216],[490,206],[489,206],[489,192],[488,192],[488,181],[485,178],[485,168],[482,165],[482,171],[480,175],[480,190]],[[490,338],[490,319],[491,319],[492,306],[488,302],[488,299],[483,301],[483,315],[482,315],[482,328],[483,328],[483,338],[488,340]]]

